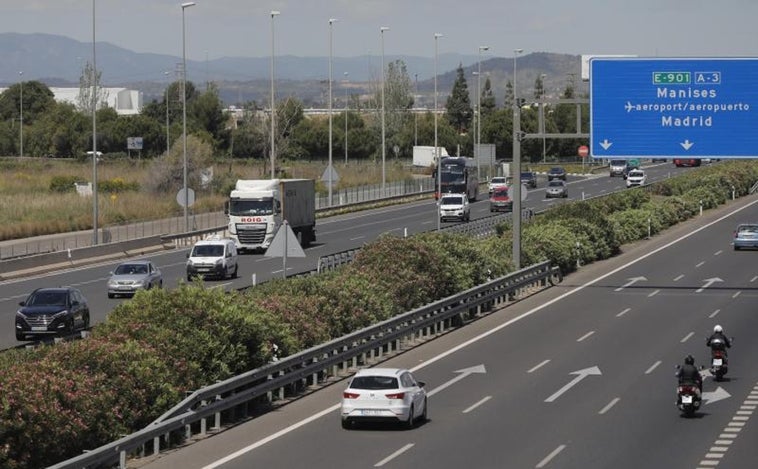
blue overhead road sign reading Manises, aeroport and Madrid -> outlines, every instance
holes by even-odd
[[[593,158],[758,157],[758,59],[593,58]]]

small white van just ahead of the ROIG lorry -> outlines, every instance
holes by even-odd
[[[237,247],[229,238],[211,236],[198,241],[187,254],[187,281],[192,277],[237,277]]]

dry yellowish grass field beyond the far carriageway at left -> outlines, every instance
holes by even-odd
[[[377,163],[334,164],[339,175],[335,189],[381,182],[382,165]],[[283,165],[286,177],[321,180],[326,162],[288,163]],[[151,166],[145,162],[105,161],[98,164],[98,181],[120,178],[127,183],[136,182],[140,187],[149,186]],[[233,184],[236,179],[255,179],[264,171],[262,164],[225,162],[214,165],[214,173],[223,184]],[[50,182],[56,176],[76,177],[81,181],[92,180],[92,164],[71,160],[46,160],[8,158],[0,160],[0,240],[25,238],[65,231],[92,228],[92,199],[74,192],[60,194],[50,190]],[[403,164],[394,160],[386,162],[387,181],[411,177]],[[222,184],[222,185],[223,185]],[[326,192],[324,183],[317,190]],[[154,194],[146,190],[103,194],[98,196],[98,224],[114,225],[124,222],[153,220],[181,216],[182,208],[175,199],[176,193]],[[198,193],[193,206],[196,213],[218,211],[223,208],[226,194],[221,192]]]

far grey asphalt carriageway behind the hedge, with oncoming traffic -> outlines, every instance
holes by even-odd
[[[656,164],[647,169],[648,180],[670,177],[687,171],[687,168],[675,168],[671,163]],[[692,169],[689,169],[690,171]],[[596,176],[569,176],[568,199],[544,199],[545,177],[540,176],[538,188],[529,191],[524,202],[525,208],[535,211],[543,210],[555,204],[568,203],[572,200],[601,196],[617,190],[625,190],[622,178],[610,178],[607,172]],[[472,204],[471,218],[477,219],[492,215],[486,192]],[[443,223],[448,226],[452,223]],[[356,212],[347,215],[318,219],[316,222],[317,241],[305,250],[305,258],[288,258],[287,274],[315,269],[320,256],[360,247],[384,233],[397,236],[430,231],[437,228],[437,210],[433,199],[410,204],[389,206],[379,209]],[[151,254],[146,258],[152,260],[163,272],[164,287],[174,288],[185,281],[185,263],[188,249],[177,249]],[[4,326],[0,327],[0,350],[19,344],[13,331],[14,314],[18,303],[35,288],[45,286],[69,285],[82,290],[87,298],[91,322],[97,324],[121,301],[128,299],[108,299],[105,283],[109,272],[121,261],[109,261],[98,265],[63,270],[44,275],[0,282],[0,310],[5,312]],[[282,259],[268,258],[262,254],[245,254],[240,256],[239,277],[226,281],[209,280],[205,285],[210,288],[237,289],[252,284],[253,276],[260,283],[273,277],[282,276]]]

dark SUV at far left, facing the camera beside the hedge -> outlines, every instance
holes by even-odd
[[[65,335],[89,328],[89,306],[76,288],[38,288],[19,303],[16,340]]]

